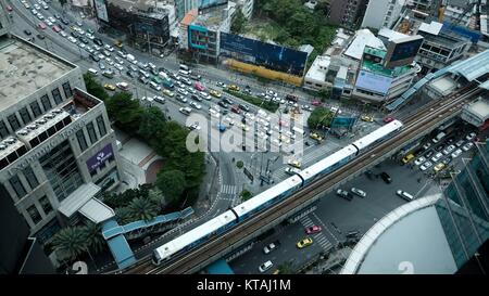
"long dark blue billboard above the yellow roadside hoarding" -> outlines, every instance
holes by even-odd
[[[265,43],[234,34],[221,33],[221,55],[263,66],[268,69],[302,76],[308,53]]]

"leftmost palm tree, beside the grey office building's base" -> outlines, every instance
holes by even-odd
[[[68,227],[54,235],[52,245],[63,259],[75,260],[86,252],[87,240],[82,228]]]

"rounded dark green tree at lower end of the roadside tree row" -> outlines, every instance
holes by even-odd
[[[177,203],[185,191],[185,175],[181,170],[162,170],[158,173],[156,185],[168,203]]]

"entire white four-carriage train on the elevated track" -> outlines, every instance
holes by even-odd
[[[171,258],[178,257],[185,252],[204,243],[212,236],[224,233],[226,230],[241,223],[254,214],[290,196],[316,179],[342,167],[373,145],[390,138],[402,126],[401,121],[393,120],[244,203],[226,210],[208,222],[155,248],[152,255],[153,263],[160,265],[168,261]]]

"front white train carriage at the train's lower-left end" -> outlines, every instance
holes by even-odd
[[[153,262],[160,265],[162,261],[168,260],[180,252],[186,252],[203,243],[210,236],[223,233],[226,229],[236,224],[236,215],[231,210],[226,210],[208,222],[155,248],[153,250]]]

